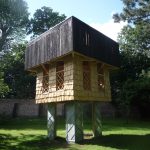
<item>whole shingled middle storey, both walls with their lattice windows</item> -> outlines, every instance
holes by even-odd
[[[106,64],[74,55],[42,68],[37,73],[36,103],[111,100]]]

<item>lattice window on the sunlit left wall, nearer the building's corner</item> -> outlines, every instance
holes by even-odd
[[[56,64],[56,90],[64,88],[64,62],[59,61]]]

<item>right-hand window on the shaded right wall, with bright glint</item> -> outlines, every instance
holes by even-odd
[[[105,82],[104,82],[104,68],[102,63],[97,64],[97,74],[98,74],[98,88],[100,91],[105,90]]]

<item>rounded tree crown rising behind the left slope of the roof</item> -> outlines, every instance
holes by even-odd
[[[44,6],[41,9],[37,9],[33,18],[30,19],[27,26],[27,33],[32,33],[34,36],[40,35],[65,18],[64,14],[59,15],[58,12],[54,12],[51,8]]]

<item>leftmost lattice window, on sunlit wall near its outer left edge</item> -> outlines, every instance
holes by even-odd
[[[49,65],[43,65],[42,92],[49,90]]]

